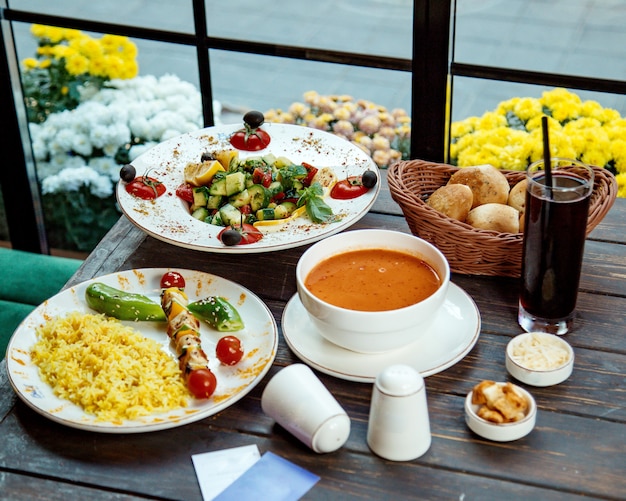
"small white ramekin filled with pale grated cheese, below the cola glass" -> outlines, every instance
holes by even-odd
[[[574,350],[554,334],[527,332],[509,341],[505,365],[509,374],[522,383],[552,386],[572,374]]]

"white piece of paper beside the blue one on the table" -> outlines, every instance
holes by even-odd
[[[191,456],[202,498],[215,499],[256,463],[261,454],[256,445],[245,445]]]

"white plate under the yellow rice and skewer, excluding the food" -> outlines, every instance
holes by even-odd
[[[189,301],[209,295],[225,297],[239,312],[244,329],[232,333],[244,347],[243,359],[234,366],[219,363],[215,345],[226,333],[213,330],[201,322],[202,347],[209,357],[209,367],[217,378],[217,388],[209,399],[189,398],[188,405],[168,412],[153,413],[134,420],[104,421],[86,413],[80,406],[58,398],[43,382],[30,350],[37,341],[36,328],[47,320],[72,312],[95,314],[85,303],[85,289],[93,282],[102,282],[127,292],[143,294],[159,302],[160,279],[170,269],[146,268],[102,276],[66,289],[36,308],[18,326],[7,348],[7,372],[17,395],[39,414],[73,428],[103,433],[141,433],[157,431],[199,421],[212,416],[249,393],[265,376],[276,357],[278,329],[271,312],[248,289],[224,278],[191,270],[174,270],[185,278]],[[144,336],[156,340],[176,360],[170,346],[165,322],[122,322],[132,325]]]

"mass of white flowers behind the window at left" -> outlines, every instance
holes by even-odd
[[[119,176],[115,158],[121,148],[133,144],[128,154],[134,160],[158,142],[203,125],[200,93],[175,75],[111,80],[82,99],[74,110],[30,124],[44,194],[89,186],[95,196],[108,197]]]

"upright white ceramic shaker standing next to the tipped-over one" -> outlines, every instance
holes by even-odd
[[[380,457],[410,461],[430,447],[424,378],[412,367],[392,365],[376,377],[367,444]]]

